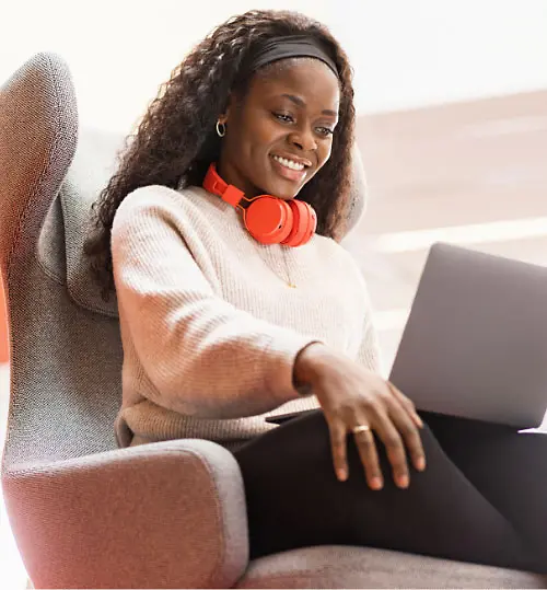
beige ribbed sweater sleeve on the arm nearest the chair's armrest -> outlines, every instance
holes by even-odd
[[[299,397],[294,359],[315,339],[219,298],[191,256],[174,203],[146,190],[118,208],[112,256],[118,308],[155,390],[152,401],[222,419]]]

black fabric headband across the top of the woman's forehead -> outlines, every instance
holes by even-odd
[[[287,35],[267,41],[251,56],[246,70],[252,73],[267,63],[290,57],[313,57],[321,59],[339,78],[336,63],[328,57],[325,49],[313,37],[305,35]]]

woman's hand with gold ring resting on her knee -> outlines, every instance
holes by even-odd
[[[415,467],[426,468],[418,430],[423,424],[412,402],[395,385],[323,344],[312,344],[300,352],[294,381],[298,385],[311,385],[323,408],[338,479],[344,482],[348,477],[347,436],[358,426],[370,427],[354,433],[354,438],[372,489],[383,487],[372,430],[386,447],[398,487],[408,487],[410,481],[405,444]]]

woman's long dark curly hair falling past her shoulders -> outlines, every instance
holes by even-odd
[[[136,131],[127,138],[116,173],[92,206],[92,227],[84,244],[103,300],[114,291],[110,233],[120,203],[141,186],[201,185],[208,165],[220,155],[218,117],[230,94],[244,93],[248,85],[246,60],[260,44],[283,35],[315,38],[339,72],[340,105],[331,155],[298,198],[316,210],[317,233],[335,240],[341,236],[354,134],[352,70],[347,55],[315,20],[295,12],[253,10],[228,20],[191,50],[160,86]]]

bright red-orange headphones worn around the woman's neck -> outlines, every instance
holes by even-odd
[[[317,229],[317,213],[302,200],[283,200],[270,195],[247,199],[243,190],[226,184],[211,163],[203,180],[203,188],[218,195],[243,211],[243,221],[251,235],[260,244],[302,246],[307,244]],[[245,199],[251,205],[244,208]]]

